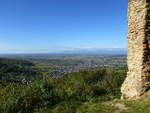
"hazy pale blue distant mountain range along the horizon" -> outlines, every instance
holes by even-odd
[[[0,54],[0,56],[20,56],[20,55],[56,55],[56,54],[87,54],[87,55],[115,55],[115,54],[127,54],[127,48],[80,48],[80,49],[70,49],[70,50],[61,50],[55,52],[43,52],[43,53],[7,53],[7,54]]]

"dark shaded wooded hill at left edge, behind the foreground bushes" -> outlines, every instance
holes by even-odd
[[[40,77],[41,73],[33,69],[33,66],[33,63],[26,60],[0,58],[0,83],[30,82]]]

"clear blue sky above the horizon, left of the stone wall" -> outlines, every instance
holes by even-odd
[[[127,0],[0,0],[0,53],[127,47]]]

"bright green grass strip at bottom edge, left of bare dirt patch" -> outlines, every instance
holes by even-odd
[[[102,103],[62,102],[52,110],[41,113],[115,113],[118,108]]]

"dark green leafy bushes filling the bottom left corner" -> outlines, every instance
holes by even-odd
[[[33,113],[54,105],[53,86],[45,80],[29,85],[9,84],[0,90],[0,111],[4,113]]]

